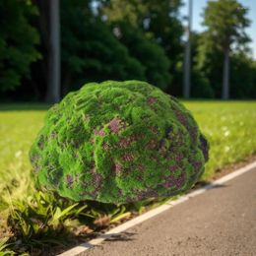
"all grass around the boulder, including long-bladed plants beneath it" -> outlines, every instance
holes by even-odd
[[[225,165],[256,153],[255,101],[184,101],[184,104],[211,144],[203,181],[211,179]],[[49,245],[90,237],[93,230],[129,219],[132,214],[162,201],[149,199],[119,206],[96,202],[74,204],[35,192],[28,153],[47,108],[43,104],[0,105],[0,255],[8,250],[6,255],[10,255],[10,249],[19,255],[28,251],[39,255]]]

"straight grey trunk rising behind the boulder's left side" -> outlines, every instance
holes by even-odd
[[[60,22],[59,0],[49,1],[49,59],[46,101],[60,100]]]

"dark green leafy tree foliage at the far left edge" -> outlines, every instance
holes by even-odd
[[[0,1],[0,91],[14,91],[30,78],[31,63],[40,58],[39,34],[29,23],[37,9],[30,0]]]

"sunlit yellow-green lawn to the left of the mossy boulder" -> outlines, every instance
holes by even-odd
[[[16,109],[19,108],[24,105],[17,105]],[[11,110],[7,110],[6,105],[0,106],[0,204],[4,202],[1,197],[8,199],[8,190],[13,198],[21,198],[32,189],[28,153],[42,125],[46,106],[44,110],[26,108],[15,110],[11,105]]]

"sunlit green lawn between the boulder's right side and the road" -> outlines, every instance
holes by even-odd
[[[203,179],[256,153],[256,101],[185,101],[210,141]]]

